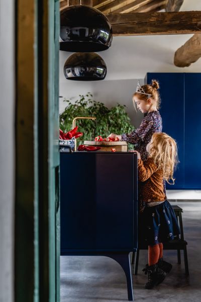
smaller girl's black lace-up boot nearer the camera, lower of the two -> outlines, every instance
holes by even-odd
[[[142,271],[145,272],[145,275],[148,274],[148,282],[145,284],[147,289],[151,289],[161,283],[166,276],[166,273],[157,264],[146,266]]]

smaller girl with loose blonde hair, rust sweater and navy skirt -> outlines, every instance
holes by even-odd
[[[143,161],[139,152],[138,179],[139,198],[145,208],[140,214],[140,242],[148,245],[148,273],[145,288],[153,288],[161,283],[172,265],[163,261],[163,243],[180,234],[172,206],[166,199],[163,180],[174,184],[173,172],[177,164],[177,145],[166,133],[154,133],[146,146],[147,160]]]

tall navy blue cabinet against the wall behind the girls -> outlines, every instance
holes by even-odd
[[[163,132],[176,139],[179,164],[175,185],[167,189],[201,189],[201,73],[147,73],[160,84]]]

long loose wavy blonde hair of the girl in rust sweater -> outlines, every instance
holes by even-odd
[[[164,132],[154,133],[150,144],[149,157],[153,158],[168,184],[174,184],[173,172],[178,163],[176,141]],[[172,181],[170,183],[169,181]]]

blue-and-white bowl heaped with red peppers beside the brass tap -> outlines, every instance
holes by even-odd
[[[78,126],[74,129],[64,133],[59,129],[59,151],[60,152],[69,152],[69,150],[75,150],[75,138],[78,138],[83,135],[82,132],[77,131]]]

